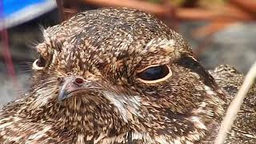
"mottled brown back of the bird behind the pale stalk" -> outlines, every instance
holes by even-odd
[[[238,93],[242,85],[244,76],[232,66],[222,65],[210,74],[215,78],[218,86],[227,92],[229,102]],[[234,121],[234,126],[230,130],[230,143],[256,143],[256,84],[250,88],[246,95],[242,107]]]

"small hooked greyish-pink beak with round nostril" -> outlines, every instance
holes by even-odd
[[[66,77],[62,79],[62,86],[58,93],[58,100],[62,102],[66,98],[70,98],[74,92],[86,89],[88,82],[81,77]]]

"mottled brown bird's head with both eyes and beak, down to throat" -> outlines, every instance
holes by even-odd
[[[33,64],[34,108],[194,140],[223,113],[214,79],[182,37],[150,14],[92,10],[44,37]]]

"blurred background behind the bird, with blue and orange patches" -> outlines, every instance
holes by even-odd
[[[229,64],[246,74],[256,61],[256,0],[0,0],[0,106],[30,86],[43,28],[110,6],[154,14],[186,38],[206,69]]]

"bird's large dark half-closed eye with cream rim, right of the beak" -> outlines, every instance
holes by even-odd
[[[166,65],[147,66],[138,71],[138,79],[145,83],[162,82],[172,75],[170,67]]]

